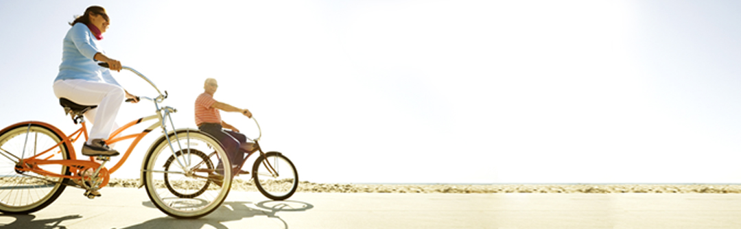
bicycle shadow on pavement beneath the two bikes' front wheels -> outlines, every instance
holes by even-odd
[[[152,202],[142,202],[147,208],[156,208]],[[254,207],[250,206],[253,205]],[[204,228],[209,225],[213,228],[228,228],[223,222],[239,221],[242,219],[252,218],[255,216],[267,216],[269,219],[278,219],[282,222],[283,227],[288,229],[288,222],[281,219],[276,214],[282,211],[305,211],[313,208],[313,205],[306,202],[298,201],[264,201],[254,204],[253,202],[224,202],[221,207],[212,213],[199,219],[177,219],[170,216],[164,216],[157,219],[151,219],[138,225],[131,225],[125,229],[142,229],[142,228],[179,228],[179,229],[196,229]]]

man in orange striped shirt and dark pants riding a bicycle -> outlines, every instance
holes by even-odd
[[[245,161],[245,152],[252,152],[255,150],[254,144],[247,142],[247,137],[244,134],[239,133],[239,130],[237,130],[236,127],[224,122],[219,114],[219,110],[224,110],[226,112],[239,112],[248,118],[252,118],[252,113],[250,113],[250,110],[240,109],[213,99],[213,94],[216,93],[218,87],[219,84],[216,83],[216,79],[206,79],[206,82],[203,85],[205,92],[196,98],[196,125],[199,130],[210,134],[222,143],[227,156],[229,156],[229,161],[233,165],[232,167],[235,167],[235,165],[242,165],[242,162]],[[223,167],[224,165],[222,165],[222,161],[219,160],[219,165],[216,166],[216,169],[219,171],[219,175],[222,176],[224,175],[224,171],[220,169]],[[242,171],[233,171],[232,173],[236,174],[239,172]],[[220,185],[222,177],[216,176],[216,174],[212,175],[214,176],[209,176],[209,178],[215,180],[217,185]]]

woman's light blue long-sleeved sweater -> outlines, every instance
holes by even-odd
[[[62,44],[62,64],[59,64],[57,80],[84,79],[91,82],[107,82],[121,86],[110,70],[98,66],[93,56],[96,53],[105,53],[100,47],[99,41],[83,23],[76,23],[64,36]]]

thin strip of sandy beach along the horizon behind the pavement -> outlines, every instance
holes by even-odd
[[[111,179],[108,187],[136,187],[137,179]],[[252,182],[236,179],[232,190],[256,191]],[[741,185],[369,185],[300,182],[304,193],[741,193]]]

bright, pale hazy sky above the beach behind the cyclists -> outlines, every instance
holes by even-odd
[[[0,1],[0,126],[76,130],[52,83],[91,4],[107,55],[170,93],[176,127],[216,78],[302,180],[741,182],[740,2]],[[138,176],[159,134],[113,177]]]

